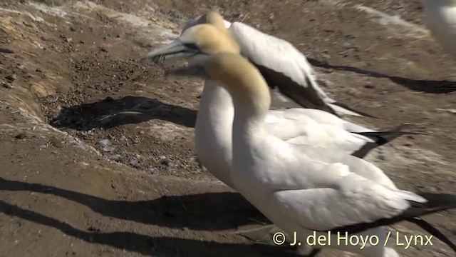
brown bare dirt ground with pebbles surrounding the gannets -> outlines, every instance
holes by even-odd
[[[328,94],[380,118],[353,121],[415,124],[425,136],[368,160],[400,188],[455,193],[456,61],[420,0],[2,0],[0,256],[294,256],[236,233],[264,217],[200,168],[202,81],[138,61],[209,9],[290,41]],[[453,241],[455,218],[425,217]],[[432,243],[398,251],[455,256]]]

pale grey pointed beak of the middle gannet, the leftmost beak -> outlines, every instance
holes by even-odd
[[[185,44],[175,39],[170,44],[154,49],[142,57],[142,63],[160,64],[171,59],[187,59],[202,54],[195,44]]]

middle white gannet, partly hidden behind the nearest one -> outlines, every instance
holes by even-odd
[[[239,46],[228,32],[223,33],[211,24],[199,24],[167,46],[150,51],[142,61],[177,58],[195,61],[200,52],[204,56],[221,51],[239,54]],[[195,151],[202,165],[232,188],[229,171],[233,117],[232,98],[226,89],[216,81],[205,81],[195,124]],[[390,131],[373,131],[318,109],[270,110],[264,127],[289,143],[331,146],[361,158],[376,146],[408,133],[401,132],[400,126]]]

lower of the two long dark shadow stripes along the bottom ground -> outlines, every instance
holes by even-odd
[[[56,228],[68,236],[79,238],[89,243],[113,246],[125,251],[142,253],[147,256],[271,256],[298,257],[296,251],[288,247],[268,246],[262,244],[217,243],[212,241],[197,241],[184,238],[152,237],[133,232],[88,232],[74,228],[70,224],[55,218],[43,216],[35,211],[29,211],[18,206],[0,201],[0,212],[9,216],[22,218],[26,221],[43,226]]]

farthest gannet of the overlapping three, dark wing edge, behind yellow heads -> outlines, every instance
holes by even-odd
[[[278,89],[281,94],[306,108],[321,109],[336,115],[373,117],[331,99],[316,83],[314,69],[306,56],[288,41],[265,34],[242,22],[231,23],[223,18],[219,21],[219,14],[214,11],[188,21],[182,33],[192,26],[204,23],[229,29],[240,46],[241,54],[257,66],[274,92]],[[288,101],[286,98],[279,100]]]

